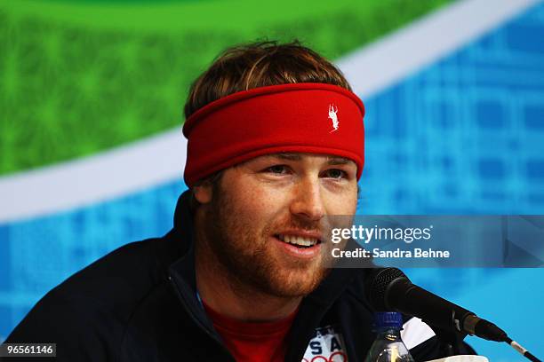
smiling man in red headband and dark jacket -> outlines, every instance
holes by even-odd
[[[172,231],[76,273],[6,342],[56,342],[59,361],[363,360],[364,270],[327,267],[328,216],[355,214],[364,164],[346,79],[299,43],[236,47],[185,115]],[[439,357],[432,338],[412,354]]]

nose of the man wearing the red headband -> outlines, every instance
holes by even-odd
[[[307,220],[318,221],[325,215],[324,200],[318,180],[305,180],[293,190],[290,211]]]

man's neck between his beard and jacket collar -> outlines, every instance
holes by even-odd
[[[302,297],[269,295],[228,271],[209,247],[204,217],[198,211],[195,219],[196,287],[204,302],[226,317],[248,322],[272,321],[291,315]]]

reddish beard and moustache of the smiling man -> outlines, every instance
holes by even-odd
[[[233,285],[277,297],[308,295],[321,283],[329,272],[324,268],[325,248],[315,259],[297,260],[278,253],[272,245],[277,241],[270,239],[284,230],[319,231],[319,222],[287,215],[261,225],[259,220],[252,222],[251,215],[244,218],[244,210],[240,209],[243,206],[236,207],[219,186],[214,189],[204,216],[206,248],[202,250],[212,253],[203,259],[220,264],[214,268],[216,271],[226,272]]]

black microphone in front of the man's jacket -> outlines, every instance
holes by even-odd
[[[372,269],[365,277],[365,294],[377,311],[400,311],[418,317],[428,325],[476,335],[489,341],[507,342],[499,327],[422,287],[396,268]]]

